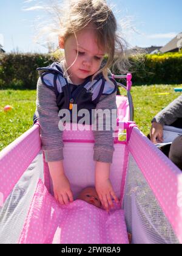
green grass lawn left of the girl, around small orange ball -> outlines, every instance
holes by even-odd
[[[35,101],[35,90],[0,90],[0,151],[32,126]],[[4,112],[5,105],[13,110]]]

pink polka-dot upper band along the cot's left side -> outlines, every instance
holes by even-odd
[[[1,151],[0,193],[3,202],[40,150],[39,126],[35,125]]]

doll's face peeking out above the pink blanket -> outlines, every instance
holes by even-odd
[[[86,201],[89,204],[93,204],[98,208],[101,208],[101,201],[99,200],[95,188],[86,188],[85,190],[81,191],[78,199]]]

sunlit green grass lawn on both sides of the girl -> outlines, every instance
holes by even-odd
[[[144,134],[149,133],[153,116],[180,95],[174,92],[175,87],[182,87],[182,85],[150,85],[132,88],[135,122]],[[121,93],[124,94],[124,90],[121,90]],[[35,101],[35,90],[0,90],[0,151],[32,127]],[[13,110],[4,112],[5,105],[12,105]]]

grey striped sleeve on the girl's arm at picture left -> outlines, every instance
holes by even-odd
[[[36,116],[41,126],[42,150],[46,162],[63,160],[62,132],[59,130],[59,108],[54,91],[42,84],[37,84]]]

